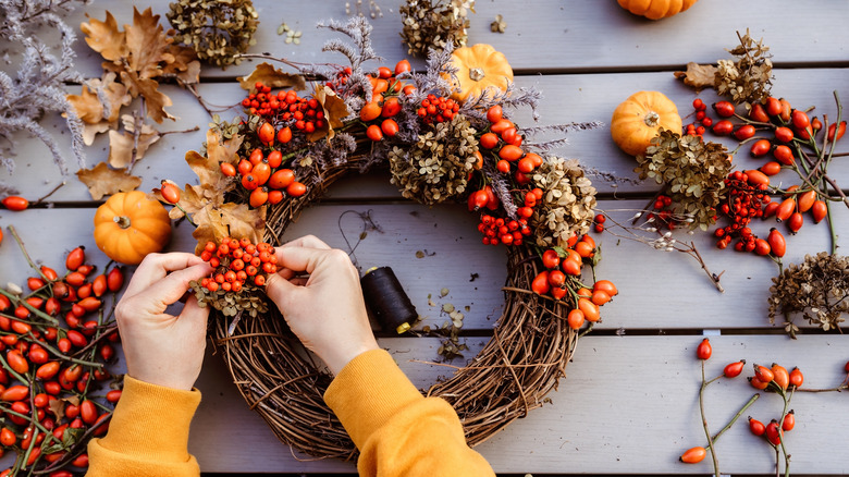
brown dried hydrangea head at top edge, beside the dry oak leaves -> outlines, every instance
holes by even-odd
[[[190,46],[197,57],[217,66],[238,64],[238,53],[257,42],[259,15],[250,0],[179,0],[168,16],[174,39]]]

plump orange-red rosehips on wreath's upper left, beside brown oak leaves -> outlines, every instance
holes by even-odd
[[[266,126],[273,130],[269,123],[264,123],[260,130]],[[273,132],[270,134],[273,135]],[[284,192],[290,197],[306,194],[307,186],[295,180],[292,169],[283,168],[282,164],[283,154],[279,150],[272,150],[266,156],[261,148],[255,148],[247,159],[238,161],[237,167],[222,162],[221,172],[231,178],[238,175],[242,186],[250,192],[250,207],[257,208],[266,204],[280,204],[285,198]]]

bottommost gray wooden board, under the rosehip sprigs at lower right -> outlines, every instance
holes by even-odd
[[[707,474],[710,457],[698,465],[677,462],[685,450],[704,445],[699,417],[700,365],[694,350],[700,337],[593,337],[578,342],[567,377],[549,394],[551,403],[512,423],[478,447],[499,473],[624,473]],[[832,388],[846,376],[845,335],[712,337],[713,357],[706,375],[717,376],[727,363],[777,362],[804,371],[804,387]],[[427,387],[446,369],[411,363],[413,354],[432,354],[432,339],[384,339],[402,369],[419,387]],[[470,340],[471,352],[479,343]],[[815,353],[812,351],[815,350]],[[407,352],[409,351],[409,353]],[[462,363],[454,363],[460,365]],[[450,371],[450,370],[448,370]],[[718,431],[755,392],[746,382],[750,367],[734,380],[723,379],[705,393],[710,428]],[[264,423],[247,409],[218,356],[205,363],[198,388],[204,400],[193,421],[189,450],[207,472],[350,472],[339,461],[302,462],[280,444]],[[844,393],[845,394],[845,393]],[[796,393],[796,428],[786,435],[798,474],[845,474],[842,458],[834,458],[832,443],[849,439],[842,401],[837,393]],[[764,393],[717,442],[723,473],[768,474],[774,454],[763,439],[753,437],[746,423],[777,418],[782,400]]]

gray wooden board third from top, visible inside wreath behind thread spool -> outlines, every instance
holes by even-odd
[[[643,205],[638,200],[605,200],[599,208],[625,223]],[[348,210],[354,212],[345,213]],[[424,317],[423,325],[443,325],[447,317],[441,307],[450,303],[466,315],[464,326],[467,330],[493,327],[503,304],[504,252],[501,247],[480,244],[475,216],[463,207],[427,208],[408,203],[315,206],[291,224],[284,238],[313,234],[331,246],[347,249],[339,224],[353,246],[364,227],[358,215],[369,211],[382,232],[367,230],[357,246],[356,258],[362,269],[392,267],[418,313]],[[96,264],[104,265],[107,259],[97,249],[90,232],[94,212],[94,208],[3,211],[0,224],[14,224],[30,255],[47,265],[61,264],[63,254],[79,244],[86,245]],[[835,207],[840,244],[849,236],[847,217],[846,208]],[[825,222],[815,225],[810,217],[807,220],[809,223],[798,235],[787,235],[786,264],[799,262],[805,254],[829,247]],[[608,222],[608,231],[622,234],[610,225]],[[772,225],[775,222],[768,220],[755,222],[752,228],[756,234],[765,236]],[[174,230],[168,249],[192,250],[195,240],[190,225],[181,222]],[[5,272],[0,276],[0,282],[22,279],[28,273],[14,241],[8,231],[5,234],[0,245],[0,269]],[[778,329],[770,325],[766,317],[771,279],[777,274],[777,268],[770,259],[730,249],[718,250],[713,246],[714,238],[710,233],[676,232],[678,240],[696,243],[712,272],[724,271],[722,283],[726,292],[721,294],[697,261],[685,254],[657,252],[643,243],[619,240],[610,233],[593,236],[601,244],[603,256],[596,269],[598,278],[613,280],[619,289],[619,295],[602,308],[600,328],[626,331]],[[417,257],[418,252],[423,254],[422,258]],[[472,273],[477,273],[473,281]],[[589,270],[585,270],[583,280],[591,283]],[[440,297],[443,288],[448,289],[448,294]]]

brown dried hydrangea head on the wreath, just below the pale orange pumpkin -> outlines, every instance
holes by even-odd
[[[463,194],[478,161],[475,133],[469,120],[456,114],[419,134],[409,149],[393,147],[389,151],[392,183],[404,197],[429,205]]]

